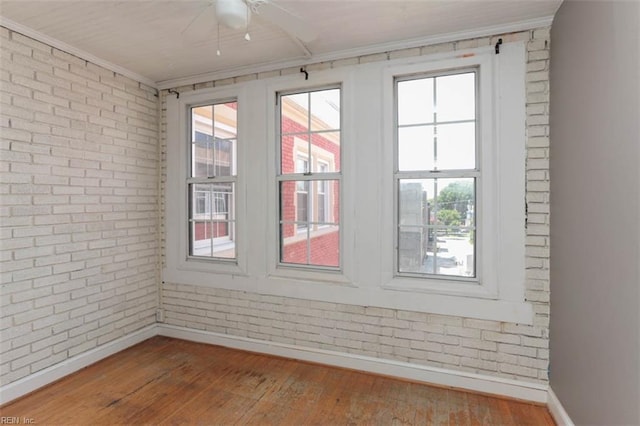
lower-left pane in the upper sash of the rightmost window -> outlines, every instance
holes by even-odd
[[[434,170],[434,144],[433,126],[398,129],[398,169]]]

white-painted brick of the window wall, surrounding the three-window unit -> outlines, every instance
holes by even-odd
[[[546,382],[549,327],[549,29],[462,40],[309,65],[338,68],[398,57],[527,43],[526,298],[533,326],[165,283],[165,322],[234,336],[363,354],[498,377]],[[177,88],[188,92],[297,74],[299,68]],[[166,103],[161,94],[161,185],[166,183]],[[161,208],[164,211],[164,198]],[[161,223],[164,235],[164,221]],[[524,226],[524,225],[523,225]],[[164,240],[162,241],[164,253]]]

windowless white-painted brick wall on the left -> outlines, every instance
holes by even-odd
[[[155,89],[2,28],[0,384],[155,322]]]

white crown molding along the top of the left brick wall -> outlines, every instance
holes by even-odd
[[[145,84],[149,87],[153,87],[154,89],[157,89],[157,84],[155,81],[140,75],[138,73],[135,73],[131,70],[128,70],[127,68],[121,67],[120,65],[116,65],[114,63],[111,63],[109,61],[106,61],[102,58],[99,58],[97,56],[92,55],[91,53],[84,51],[82,49],[78,49],[77,47],[71,46],[63,41],[60,41],[56,38],[50,37],[46,34],[43,34],[39,31],[36,31],[32,28],[29,28],[25,25],[19,24],[15,21],[12,21],[11,19],[7,19],[4,16],[0,16],[0,26],[3,26],[11,31],[15,31],[17,33],[20,33],[26,37],[32,38],[34,40],[37,40],[41,43],[44,43],[48,46],[51,46],[53,48],[56,48],[58,50],[62,50],[63,52],[66,53],[70,53],[71,55],[77,56],[81,59],[84,59],[86,61],[89,61],[95,65],[99,65],[103,68],[108,69],[109,71],[113,71],[115,73],[121,74],[125,77],[128,77],[132,80],[135,80],[139,83]]]

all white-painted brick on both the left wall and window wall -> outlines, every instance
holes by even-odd
[[[544,383],[549,359],[549,29],[318,63],[527,44],[526,299],[534,324],[160,284],[167,92],[0,28],[1,383],[155,321]],[[178,88],[299,73],[299,68]],[[160,137],[158,138],[158,133]],[[158,301],[160,300],[160,305]]]

